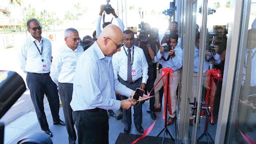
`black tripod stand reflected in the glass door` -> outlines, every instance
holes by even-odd
[[[212,84],[212,80],[209,81],[210,85]],[[211,97],[211,92],[209,92],[209,94],[207,95],[208,96],[208,101],[206,103],[206,107],[201,107],[202,109],[204,109],[206,111],[205,113],[205,124],[204,124],[204,132],[199,136],[199,138],[197,139],[197,142],[199,142],[199,140],[201,140],[204,136],[206,137],[206,141],[208,144],[209,141],[208,141],[208,137],[212,140],[212,142],[214,143],[214,140],[212,139],[211,135],[209,134],[208,132],[208,123],[209,123],[209,116],[210,116],[210,109],[209,109],[209,105],[210,105],[210,97]]]

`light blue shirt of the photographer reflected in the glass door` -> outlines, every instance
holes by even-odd
[[[199,62],[200,62],[200,58],[199,58],[199,50],[196,48],[195,46],[195,54],[194,54],[194,72],[198,73],[198,68],[199,68]],[[206,61],[204,59],[204,73],[209,69],[210,64],[220,64],[220,54],[216,53],[215,55],[211,55],[211,56],[206,56],[206,58],[208,60],[210,60],[212,58],[212,60],[210,61]]]

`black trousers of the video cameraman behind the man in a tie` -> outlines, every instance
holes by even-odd
[[[145,88],[145,94],[147,95],[147,92],[150,92],[154,87],[156,77],[154,76],[154,67],[148,65],[148,81]],[[155,95],[155,91],[152,90],[149,96]],[[155,109],[155,98],[149,99],[149,109],[150,111],[154,111]]]

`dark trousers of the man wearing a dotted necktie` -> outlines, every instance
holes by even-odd
[[[141,79],[136,81],[135,83],[131,83],[129,84],[128,82],[124,81],[122,78],[118,78],[119,82],[121,84],[124,84],[125,86],[127,86],[128,88],[132,89],[132,90],[136,90],[137,87],[140,87],[141,84]],[[128,99],[128,97],[126,96],[122,96],[122,100]],[[133,121],[135,126],[139,126],[142,123],[142,103],[140,103],[139,105],[134,105],[133,106],[133,110],[134,110],[134,115],[133,115]],[[128,110],[123,108],[123,120],[124,120],[124,124],[128,125],[129,127],[131,127],[132,125],[132,110],[131,108],[129,108]]]

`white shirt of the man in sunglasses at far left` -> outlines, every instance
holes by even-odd
[[[36,44],[34,44],[34,42]],[[40,52],[42,51],[42,46],[43,46],[42,56],[38,52],[36,45],[40,50]],[[31,35],[28,36],[18,52],[20,68],[25,73],[50,72],[51,58],[52,58],[52,44],[48,39],[42,36],[41,36],[40,42],[38,42],[33,36]]]

